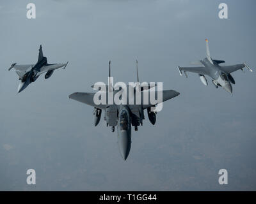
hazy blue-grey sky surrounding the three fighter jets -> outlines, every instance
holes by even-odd
[[[0,190],[256,190],[255,71],[232,74],[231,96],[176,69],[205,57],[205,38],[214,59],[255,68],[255,1],[225,1],[227,20],[218,18],[223,1],[33,1],[33,20],[28,3],[0,3]],[[8,68],[36,62],[40,44],[49,63],[69,64],[17,94]],[[138,59],[141,81],[180,92],[155,126],[145,112],[125,162],[116,133],[68,99],[107,82],[109,59],[115,82],[135,81]],[[218,184],[221,168],[228,185]]]

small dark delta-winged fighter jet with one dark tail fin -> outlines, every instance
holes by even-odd
[[[45,79],[51,77],[52,73],[55,69],[66,68],[68,62],[65,64],[48,64],[47,58],[44,57],[42,45],[39,48],[38,61],[36,64],[17,64],[13,63],[11,67],[8,69],[9,71],[14,68],[16,70],[17,75],[19,75],[20,84],[18,87],[18,93],[26,89],[31,82],[35,82],[35,80],[45,73]]]

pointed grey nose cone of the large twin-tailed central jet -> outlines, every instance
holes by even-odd
[[[120,131],[118,136],[118,147],[124,161],[127,159],[131,149],[131,137],[127,131]]]

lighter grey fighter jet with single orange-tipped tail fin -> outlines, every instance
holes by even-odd
[[[205,78],[205,75],[208,75],[209,77],[212,78],[212,84],[214,84],[216,88],[223,87],[223,89],[225,89],[227,92],[230,92],[230,94],[232,94],[231,84],[235,84],[235,80],[230,73],[237,71],[238,69],[241,69],[243,71],[244,67],[250,71],[252,71],[252,69],[250,69],[245,62],[243,64],[220,66],[219,64],[224,63],[225,61],[212,59],[210,55],[210,50],[209,50],[209,41],[207,39],[205,39],[205,41],[206,41],[205,59],[196,61],[196,62],[191,62],[191,64],[199,65],[198,67],[177,66],[180,76],[182,76],[182,71],[184,71],[184,74],[186,77],[188,77],[188,75],[186,74],[186,71],[197,73],[202,83],[204,85],[208,85],[207,80]]]

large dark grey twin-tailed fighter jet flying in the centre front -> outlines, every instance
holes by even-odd
[[[110,78],[110,61],[109,61],[109,78]],[[156,86],[157,84],[153,85]],[[106,85],[106,92],[113,92],[115,95],[116,92],[120,91],[120,89],[114,89],[113,85],[108,83]],[[129,85],[127,85],[129,86]],[[93,87],[93,86],[92,86]],[[130,149],[131,149],[131,129],[134,126],[135,131],[138,131],[138,126],[143,125],[144,117],[144,110],[147,109],[148,119],[154,125],[156,123],[156,112],[151,111],[151,107],[153,106],[152,103],[143,103],[143,91],[148,91],[149,89],[152,90],[151,86],[144,87],[139,82],[138,77],[138,61],[137,61],[137,82],[136,87],[132,87],[132,94],[136,95],[136,89],[140,91],[141,94],[141,103],[136,105],[116,105],[115,101],[112,105],[109,105],[107,102],[106,105],[96,105],[93,97],[95,96],[95,92],[74,92],[70,94],[69,98],[79,101],[81,103],[85,103],[87,105],[93,106],[93,115],[94,115],[94,125],[97,126],[100,122],[100,116],[102,111],[104,112],[104,120],[106,120],[106,125],[111,126],[112,132],[115,131],[115,126],[117,126],[117,142],[118,142],[118,149],[124,161],[127,159]],[[154,90],[153,90],[154,92]],[[155,96],[158,97],[158,92],[155,91]],[[178,96],[180,93],[173,90],[166,90],[163,91],[163,101],[168,99],[174,98]],[[108,96],[108,94],[107,94]],[[135,98],[135,97],[134,97]],[[108,101],[108,98],[107,100]]]

